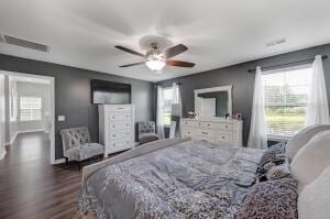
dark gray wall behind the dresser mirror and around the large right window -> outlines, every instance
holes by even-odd
[[[180,91],[183,98],[184,116],[194,110],[194,89],[233,85],[232,100],[233,113],[243,113],[244,119],[244,144],[248,142],[250,130],[250,117],[252,111],[252,98],[254,87],[254,74],[249,74],[248,69],[256,66],[272,66],[277,64],[290,63],[301,59],[314,58],[316,55],[329,55],[330,44],[301,50],[293,53],[277,55],[258,61],[238,64],[229,67],[213,69],[190,76],[178,77],[170,80],[158,83],[163,86],[172,86],[172,83],[182,83]],[[198,63],[197,63],[198,65]],[[330,98],[330,57],[323,61],[324,76],[327,81],[328,99]],[[329,101],[330,102],[330,101]]]

